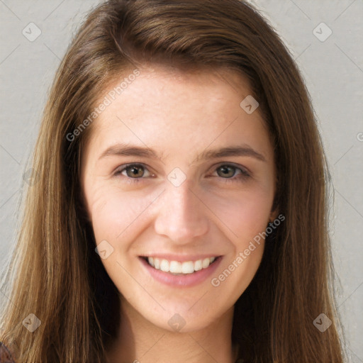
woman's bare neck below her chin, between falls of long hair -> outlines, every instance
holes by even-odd
[[[164,330],[143,318],[121,298],[118,337],[107,354],[108,363],[234,363],[233,308],[200,330]]]

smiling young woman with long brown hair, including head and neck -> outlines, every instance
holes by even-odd
[[[97,6],[33,170],[3,289],[16,362],[343,362],[323,147],[252,6]]]

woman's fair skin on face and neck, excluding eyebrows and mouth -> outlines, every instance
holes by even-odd
[[[119,83],[115,79],[100,99]],[[101,261],[121,293],[122,323],[108,362],[235,362],[233,306],[259,267],[263,240],[219,286],[211,278],[277,216],[274,150],[259,109],[247,114],[240,107],[249,94],[247,80],[228,69],[145,65],[91,125],[82,190],[96,243],[113,247]],[[160,158],[99,158],[116,143],[147,145]],[[205,150],[235,145],[248,145],[265,160],[242,155],[193,162]],[[145,169],[133,177],[123,169],[130,163]],[[223,163],[232,164],[227,176]],[[167,179],[175,167],[186,177],[179,186]],[[223,259],[196,286],[167,286],[140,263],[138,256],[152,252]],[[168,324],[175,313],[185,321],[179,331]]]

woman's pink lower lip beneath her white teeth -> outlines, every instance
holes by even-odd
[[[143,266],[146,267],[147,272],[157,281],[162,282],[163,284],[167,284],[169,286],[195,286],[197,284],[201,284],[201,282],[208,279],[213,272],[216,271],[220,261],[222,259],[221,256],[217,257],[212,264],[210,264],[206,269],[201,269],[197,272],[193,272],[193,274],[185,274],[185,275],[173,275],[169,272],[164,272],[160,269],[155,269],[150,266],[143,257],[139,257]]]

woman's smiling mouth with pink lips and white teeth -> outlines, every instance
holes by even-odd
[[[140,262],[155,280],[169,286],[194,286],[216,271],[223,256],[177,261],[155,256],[139,256]]]

